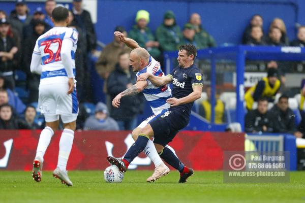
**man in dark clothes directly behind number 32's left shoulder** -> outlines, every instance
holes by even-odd
[[[32,60],[32,52],[28,50],[34,50],[37,39],[45,32],[47,24],[43,20],[33,20],[32,36],[29,36],[23,42],[23,65],[24,71],[27,75],[27,89],[29,90],[28,102],[38,101],[38,87],[40,83],[40,75],[31,73],[30,65]]]

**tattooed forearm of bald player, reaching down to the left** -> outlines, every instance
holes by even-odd
[[[122,97],[138,94],[141,91],[143,91],[143,89],[145,89],[146,86],[147,86],[146,81],[138,81],[136,84],[134,84],[130,88],[128,88],[128,89],[124,90],[123,92],[119,93],[118,95],[116,95],[116,97],[114,97],[114,99],[112,100],[112,106],[115,108],[118,108],[120,105],[120,99]]]

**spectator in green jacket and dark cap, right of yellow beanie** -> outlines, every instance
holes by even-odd
[[[163,24],[156,31],[156,38],[161,51],[175,51],[181,39],[180,27],[176,24],[175,14],[167,11],[164,14]]]

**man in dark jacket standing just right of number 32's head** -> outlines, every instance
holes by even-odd
[[[82,8],[82,0],[73,0],[72,12],[75,24],[86,38],[87,52],[94,51],[97,46],[97,36],[90,13]]]

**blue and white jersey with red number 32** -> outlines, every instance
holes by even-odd
[[[78,32],[76,29],[69,27],[53,27],[38,38],[33,52],[34,54],[41,55],[41,83],[48,84],[67,81],[67,72],[60,57],[60,50],[64,39],[69,39],[73,42],[71,57],[73,62],[73,75],[75,77],[75,52]]]

